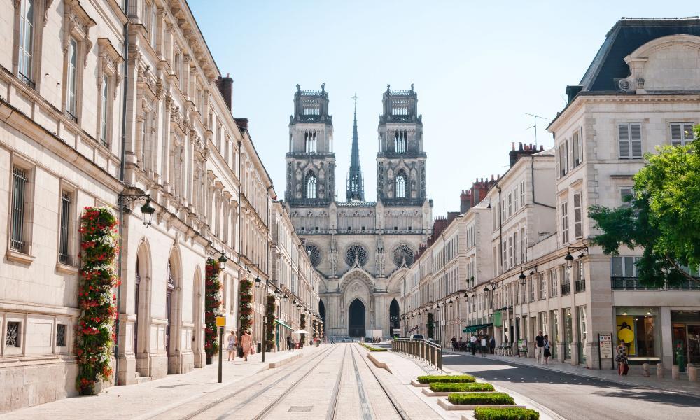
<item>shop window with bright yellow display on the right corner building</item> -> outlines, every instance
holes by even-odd
[[[616,308],[617,343],[624,340],[630,360],[659,359],[661,330],[655,308]]]

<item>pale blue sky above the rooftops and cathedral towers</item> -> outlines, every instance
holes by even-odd
[[[433,216],[458,210],[477,177],[503,174],[511,143],[545,132],[622,16],[700,14],[697,1],[190,0],[216,64],[234,80],[233,113],[250,130],[280,198],[295,85],[325,82],[345,196],[357,93],[365,198],[376,198],[377,123],[386,84],[415,84]]]

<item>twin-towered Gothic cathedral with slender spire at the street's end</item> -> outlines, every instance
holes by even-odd
[[[335,192],[333,123],[328,92],[294,94],[289,122],[286,205],[316,270],[323,275],[319,312],[328,337],[398,333],[400,274],[430,236],[432,200],[426,195],[426,153],[418,95],[382,94],[377,152],[377,202],[365,201],[357,114],[345,201]],[[396,329],[394,331],[394,328]]]

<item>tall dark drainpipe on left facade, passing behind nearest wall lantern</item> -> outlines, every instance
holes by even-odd
[[[121,139],[121,153],[119,162],[119,181],[124,183],[124,172],[125,172],[125,158],[126,158],[126,137],[127,137],[127,93],[129,87],[129,0],[124,0],[124,14],[127,15],[127,22],[124,24],[124,81],[122,89],[124,94],[122,97],[122,139]],[[117,200],[118,214],[119,214],[119,256],[117,260],[117,267],[119,273],[119,279],[122,278],[122,253],[123,253],[123,234],[124,234],[124,209],[121,198]],[[117,318],[114,321],[114,334],[116,335],[116,340],[114,342],[114,384],[119,383],[119,317],[121,315],[121,302],[122,302],[122,286],[117,287]]]

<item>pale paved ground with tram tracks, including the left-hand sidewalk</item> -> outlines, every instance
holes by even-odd
[[[267,369],[301,353],[290,363]],[[157,381],[109,388],[94,397],[67,398],[20,409],[0,419],[335,419],[458,420],[409,384],[425,372],[409,358],[381,353],[393,367],[375,367],[358,344],[325,344],[268,353],[247,363],[225,362]],[[379,354],[379,353],[373,353]]]

